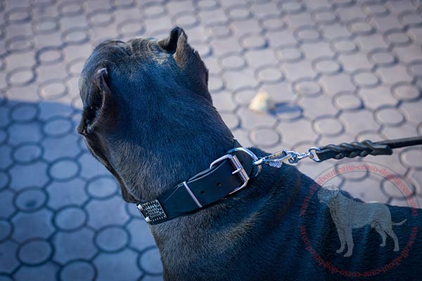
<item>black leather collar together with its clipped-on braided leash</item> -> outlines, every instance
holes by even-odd
[[[309,158],[314,162],[344,157],[365,157],[367,155],[391,155],[395,148],[422,145],[422,136],[396,140],[340,143],[312,147],[307,152],[279,150],[266,157],[258,158],[248,148],[234,140],[234,148],[216,159],[210,168],[167,190],[150,202],[139,202],[136,207],[146,223],[158,224],[177,216],[202,209],[222,198],[238,192],[248,185],[250,178],[260,174],[262,165],[281,168],[283,163],[295,164]]]

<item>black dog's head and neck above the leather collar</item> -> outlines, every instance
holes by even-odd
[[[77,131],[120,183],[124,200],[157,196],[158,185],[171,188],[178,174],[191,176],[190,167],[205,169],[195,166],[200,152],[202,161],[215,157],[207,145],[231,142],[207,79],[179,27],[166,39],[106,41],[91,53],[79,79],[84,107]]]

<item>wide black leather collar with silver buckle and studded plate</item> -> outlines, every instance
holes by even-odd
[[[235,148],[212,162],[210,169],[179,183],[156,200],[139,202],[136,207],[150,224],[162,223],[201,209],[244,188],[249,179],[259,172],[255,169],[260,166],[252,164],[256,160],[257,157],[250,150],[238,148],[235,141]]]

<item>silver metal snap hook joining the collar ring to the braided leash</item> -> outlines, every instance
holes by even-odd
[[[287,150],[279,150],[271,155],[266,157],[262,157],[257,161],[253,162],[255,166],[260,166],[262,164],[267,164],[274,168],[281,168],[284,162],[289,162],[290,164],[298,163],[300,160],[309,157],[314,162],[321,162],[321,160],[316,157],[314,151],[320,151],[319,148],[309,148],[308,152],[295,152],[295,151],[287,151]]]

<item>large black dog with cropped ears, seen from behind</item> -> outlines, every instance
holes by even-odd
[[[165,40],[95,48],[81,74],[78,131],[117,178],[125,201],[155,200],[233,148],[207,78],[179,28]],[[419,209],[388,207],[392,221],[407,219],[394,230],[406,249],[400,259],[389,237],[380,247],[371,226],[353,230],[353,253],[344,257],[335,252],[338,233],[319,189],[293,166],[265,166],[234,195],[151,226],[165,280],[422,279]]]

